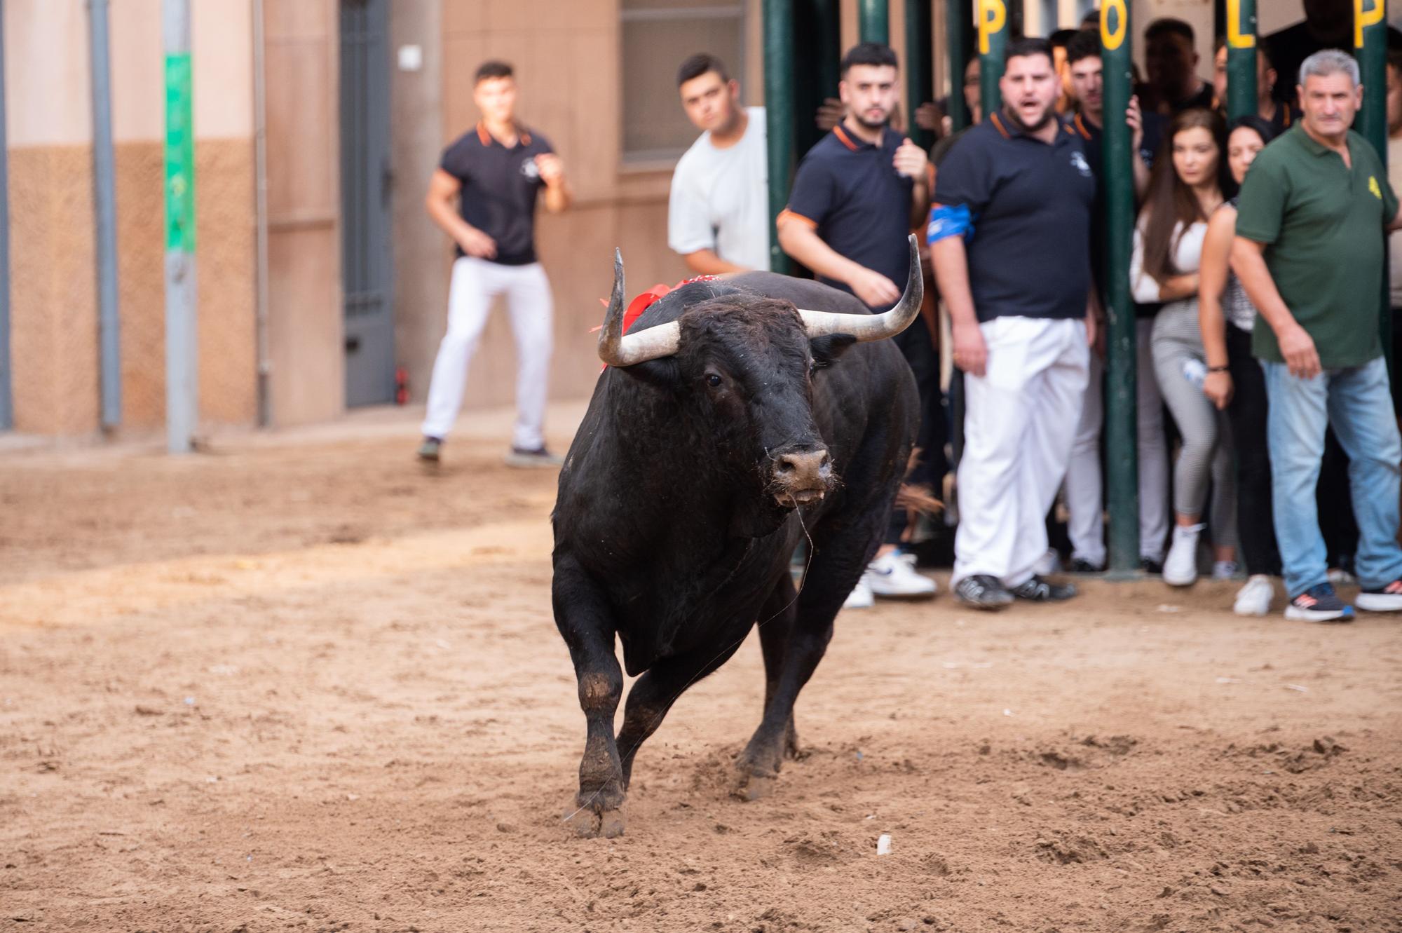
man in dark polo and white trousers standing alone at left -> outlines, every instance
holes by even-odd
[[[447,297],[447,333],[433,361],[419,458],[437,462],[439,448],[463,405],[467,364],[496,296],[506,296],[516,332],[516,427],[506,462],[555,466],[541,426],[552,342],[552,304],[545,270],[536,259],[536,198],[569,206],[559,157],[540,133],[516,122],[516,78],[505,62],[477,70],[472,99],[478,125],[443,153],[429,182],[429,217],[457,245]]]

